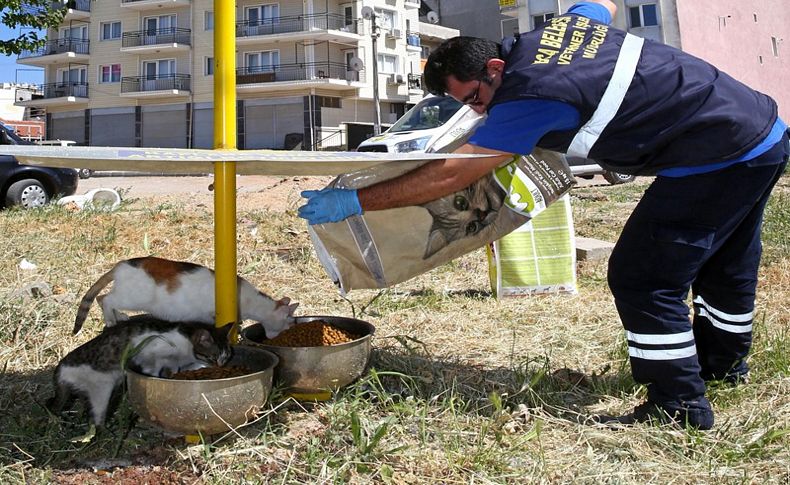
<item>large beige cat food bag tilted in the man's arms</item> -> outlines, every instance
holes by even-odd
[[[478,120],[479,122],[479,120]],[[452,152],[474,126],[448,130],[438,152]],[[338,176],[329,186],[362,188],[421,162],[392,162]],[[470,160],[470,163],[473,163]],[[309,226],[321,264],[342,294],[386,288],[486,246],[545,210],[574,183],[565,159],[536,149],[515,156],[464,190],[411,207],[368,211]]]

